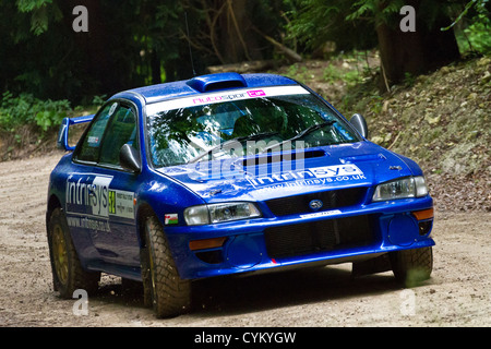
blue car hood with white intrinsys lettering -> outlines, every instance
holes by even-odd
[[[421,174],[408,158],[371,142],[157,169],[205,202],[264,201]]]

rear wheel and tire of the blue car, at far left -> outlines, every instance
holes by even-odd
[[[55,291],[64,299],[73,298],[76,289],[94,294],[100,273],[82,268],[61,208],[55,208],[48,221],[48,245]]]

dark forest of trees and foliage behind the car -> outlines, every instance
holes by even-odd
[[[414,31],[403,31],[408,20]],[[39,147],[63,117],[113,93],[227,69],[287,67],[302,81],[298,64],[321,60],[318,77],[356,87],[343,89],[345,106],[360,91],[376,101],[421,74],[489,56],[490,28],[488,0],[3,0],[1,159]],[[355,57],[356,69],[330,63],[339,57]]]

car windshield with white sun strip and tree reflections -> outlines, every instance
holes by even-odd
[[[332,108],[300,86],[149,105],[146,123],[155,167],[359,141]]]

